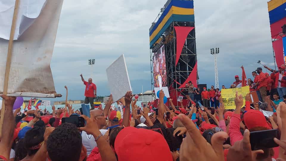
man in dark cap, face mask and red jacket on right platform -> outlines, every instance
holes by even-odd
[[[255,83],[257,84],[257,89],[259,90],[262,101],[264,102],[264,98],[267,96],[267,79],[265,73],[262,72],[262,68],[259,67],[256,71],[259,74],[259,77]]]

